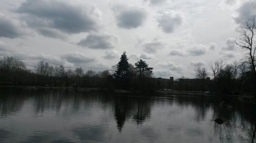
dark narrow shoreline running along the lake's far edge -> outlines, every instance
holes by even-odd
[[[20,86],[20,85],[0,85],[0,89],[20,89],[20,90],[76,90],[81,92],[112,92],[116,96],[156,96],[156,97],[184,97],[184,96],[211,96],[211,97],[233,97],[239,101],[256,104],[256,98],[252,95],[214,95],[208,92],[195,91],[127,91],[127,90],[108,90],[101,88],[74,88],[74,87],[42,87],[42,86]],[[133,95],[131,95],[133,94]]]

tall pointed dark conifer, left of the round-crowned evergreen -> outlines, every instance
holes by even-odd
[[[116,65],[114,77],[117,79],[127,79],[129,77],[129,63],[128,63],[126,52],[124,51],[121,55],[120,61]]]

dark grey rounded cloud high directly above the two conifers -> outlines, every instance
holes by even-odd
[[[116,14],[117,26],[121,28],[137,28],[146,20],[146,12],[138,7],[116,6],[113,9]]]

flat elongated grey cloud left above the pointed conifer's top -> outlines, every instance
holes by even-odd
[[[88,56],[80,52],[70,52],[67,54],[63,54],[60,57],[61,59],[65,59],[68,62],[74,64],[92,63],[96,61],[94,58],[89,58]]]

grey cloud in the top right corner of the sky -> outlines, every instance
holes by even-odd
[[[256,1],[247,1],[237,10],[237,15],[233,17],[238,24],[243,24],[252,16],[256,16]]]

